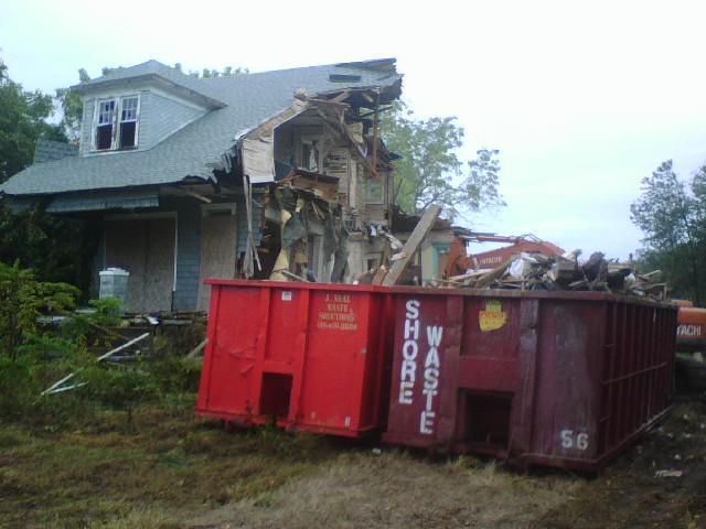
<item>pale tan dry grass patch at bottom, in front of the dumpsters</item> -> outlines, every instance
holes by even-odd
[[[521,528],[578,487],[575,479],[523,477],[472,458],[439,464],[399,452],[346,454],[314,475],[196,517],[188,527]]]

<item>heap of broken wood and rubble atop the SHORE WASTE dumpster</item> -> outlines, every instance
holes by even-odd
[[[598,291],[666,299],[666,283],[657,283],[660,270],[638,273],[632,263],[608,260],[600,251],[580,263],[581,250],[564,256],[539,253],[513,256],[493,269],[471,270],[439,281],[439,287],[547,291]]]

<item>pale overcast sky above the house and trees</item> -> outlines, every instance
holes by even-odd
[[[416,114],[458,117],[463,158],[501,151],[507,207],[471,227],[624,258],[640,247],[641,179],[666,159],[683,176],[706,161],[700,6],[6,0],[0,56],[45,91],[148,58],[261,72],[394,56]]]

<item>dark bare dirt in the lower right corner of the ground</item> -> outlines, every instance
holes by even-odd
[[[706,403],[675,406],[660,428],[533,527],[706,528]]]

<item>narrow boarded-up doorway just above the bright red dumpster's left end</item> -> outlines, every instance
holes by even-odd
[[[204,206],[201,219],[201,277],[199,310],[207,311],[211,287],[206,278],[233,279],[235,276],[237,223],[232,205]]]

